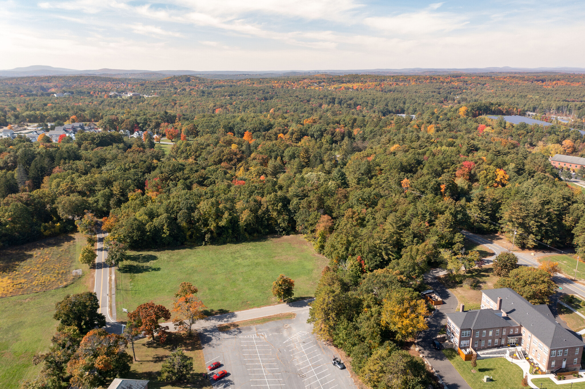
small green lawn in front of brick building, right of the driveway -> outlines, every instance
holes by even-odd
[[[453,349],[444,349],[443,353],[472,389],[522,387],[522,369],[505,358],[480,359],[477,361],[477,366],[472,367],[471,361],[463,362]],[[476,370],[476,373],[472,373],[472,370]],[[493,382],[484,383],[481,381],[483,376],[492,377]]]

